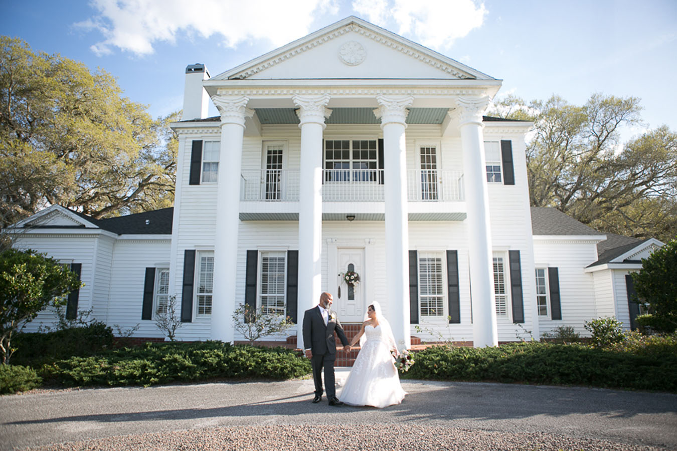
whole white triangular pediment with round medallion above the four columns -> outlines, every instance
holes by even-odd
[[[211,80],[305,78],[494,80],[450,57],[354,16]]]

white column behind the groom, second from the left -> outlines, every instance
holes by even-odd
[[[318,304],[322,293],[322,132],[330,97],[302,97],[292,100],[299,106],[301,120],[301,167],[299,176],[299,297],[297,303],[297,346],[304,348],[303,313]]]

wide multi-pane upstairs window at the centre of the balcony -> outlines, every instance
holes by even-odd
[[[324,141],[325,182],[378,181],[376,139]]]

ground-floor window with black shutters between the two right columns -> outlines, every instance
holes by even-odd
[[[442,255],[437,252],[419,252],[418,287],[421,317],[444,316],[444,281]]]

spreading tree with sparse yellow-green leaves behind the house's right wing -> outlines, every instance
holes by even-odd
[[[667,126],[624,144],[641,124],[640,100],[594,94],[584,105],[508,96],[489,114],[535,124],[527,143],[531,205],[554,207],[593,229],[663,241],[677,234],[677,133]]]

